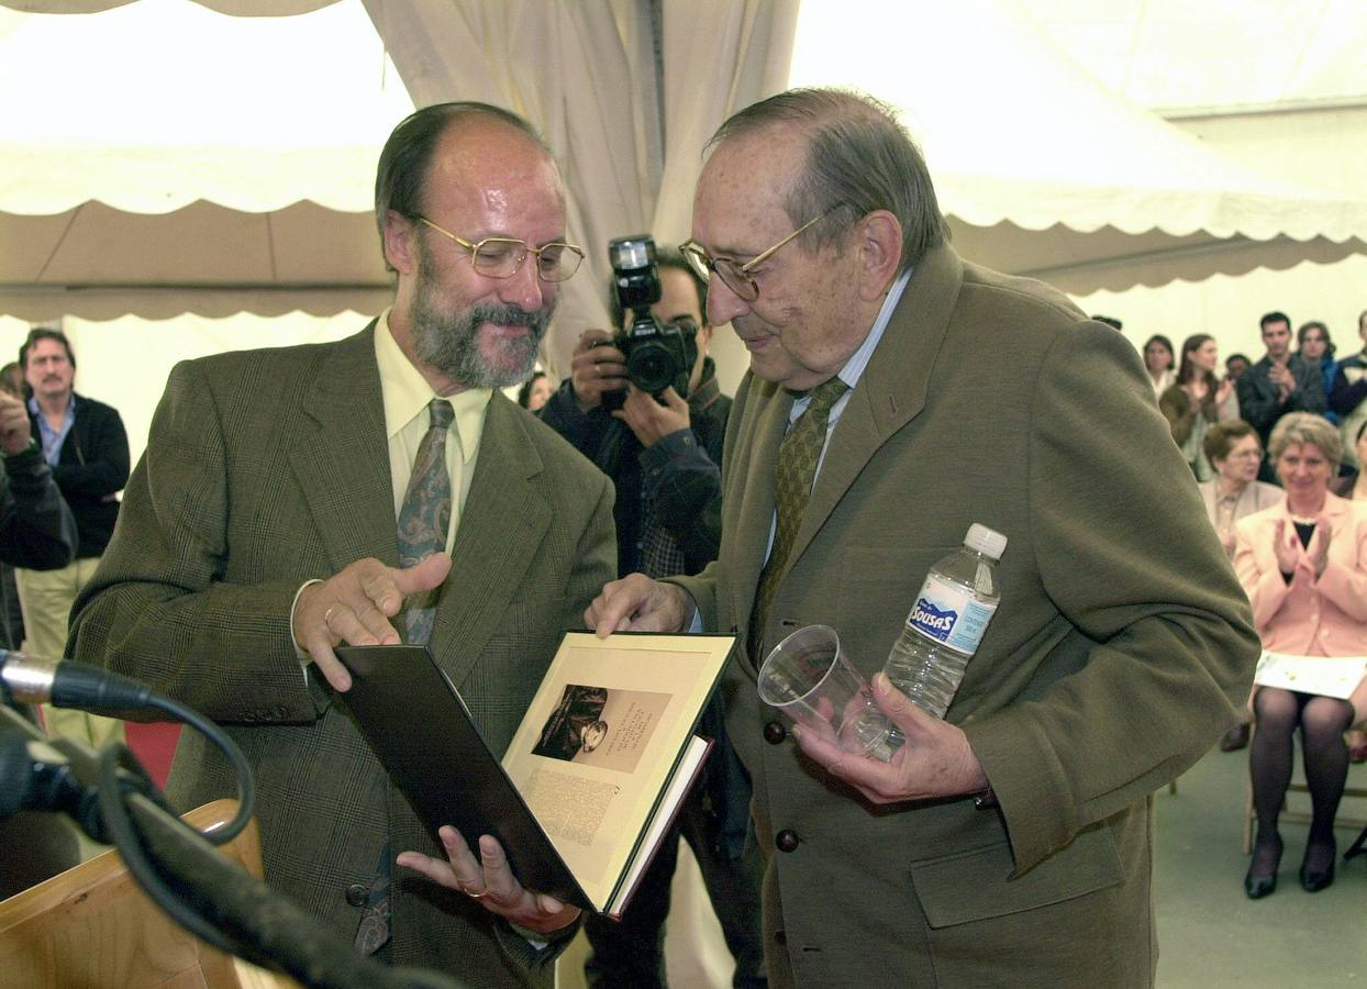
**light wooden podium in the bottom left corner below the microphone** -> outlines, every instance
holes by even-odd
[[[185,819],[205,830],[221,828],[235,813],[234,800],[216,800]],[[219,851],[261,878],[256,821]],[[0,901],[0,971],[5,985],[25,989],[298,985],[223,955],[179,927],[142,893],[112,849]]]

